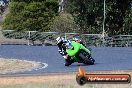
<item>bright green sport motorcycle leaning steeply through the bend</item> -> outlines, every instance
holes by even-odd
[[[91,57],[91,51],[85,48],[82,44],[72,41],[70,47],[66,48],[66,53],[78,63],[93,65],[95,60]]]

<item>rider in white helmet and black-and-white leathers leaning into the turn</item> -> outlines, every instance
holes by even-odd
[[[71,58],[70,55],[68,55],[68,53],[66,52],[67,49],[76,49],[76,44],[80,43],[83,45],[83,43],[81,43],[81,40],[79,39],[74,39],[72,41],[70,40],[65,40],[63,37],[58,37],[56,39],[57,41],[57,46],[58,46],[58,51],[59,53],[65,58],[65,66],[69,66],[72,63],[75,62],[75,60],[73,58]],[[75,43],[77,42],[77,43]],[[84,45],[83,45],[84,46]],[[89,55],[91,55],[91,52],[89,51],[89,49],[85,48],[84,49],[89,53]]]

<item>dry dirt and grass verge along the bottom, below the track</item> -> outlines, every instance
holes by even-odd
[[[132,71],[89,71],[88,74],[130,74]],[[131,88],[132,84],[85,84],[80,86],[76,82],[76,73],[49,74],[40,76],[0,77],[1,85],[12,88]],[[17,85],[17,87],[16,87]],[[4,88],[8,88],[4,86]]]

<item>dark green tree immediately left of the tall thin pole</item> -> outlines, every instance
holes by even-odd
[[[68,0],[66,11],[71,13],[81,33],[100,33],[102,3],[91,0]]]

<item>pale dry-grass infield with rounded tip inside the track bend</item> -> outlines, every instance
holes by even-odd
[[[24,72],[40,67],[40,63],[33,61],[0,58],[0,74]]]

